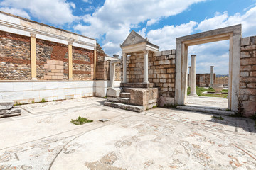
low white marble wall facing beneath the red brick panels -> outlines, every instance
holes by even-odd
[[[10,81],[0,82],[0,100],[18,103],[104,97],[109,81]]]

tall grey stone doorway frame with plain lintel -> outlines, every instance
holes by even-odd
[[[188,46],[201,45],[221,40],[230,40],[228,109],[237,111],[238,98],[236,93],[239,93],[240,83],[241,38],[241,24],[176,38],[175,104],[186,104],[188,84]]]

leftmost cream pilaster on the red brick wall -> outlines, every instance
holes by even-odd
[[[31,80],[36,79],[36,33],[31,33]]]

